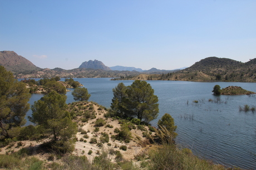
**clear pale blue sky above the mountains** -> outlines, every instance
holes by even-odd
[[[173,70],[209,56],[256,58],[255,0],[0,0],[0,51],[40,68]]]

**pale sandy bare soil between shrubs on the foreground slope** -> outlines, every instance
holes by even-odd
[[[89,138],[83,138],[83,135],[81,134],[81,132],[77,132],[76,137],[78,141],[75,143],[75,150],[73,151],[72,154],[75,154],[77,156],[85,155],[88,158],[88,160],[92,161],[92,159],[95,156],[98,156],[99,153],[102,153],[102,151],[106,151],[107,153],[109,153],[109,150],[115,150],[115,151],[120,151],[123,158],[129,160],[129,159],[134,159],[134,156],[136,154],[139,154],[140,152],[145,152],[151,146],[151,145],[146,145],[145,143],[146,138],[142,137],[142,131],[137,129],[131,130],[132,140],[130,141],[130,143],[124,143],[117,140],[113,141],[111,139],[111,135],[116,135],[117,133],[114,132],[115,128],[121,127],[119,121],[112,120],[110,118],[109,119],[105,118],[104,114],[106,114],[106,111],[98,110],[99,105],[93,104],[93,107],[96,112],[96,119],[100,119],[100,118],[104,119],[106,121],[106,125],[107,124],[112,125],[113,128],[106,127],[105,125],[105,126],[99,127],[100,129],[99,132],[93,132],[95,130],[94,122],[96,121],[96,119],[88,120],[88,122],[85,122],[85,123],[78,121],[77,122],[77,124],[79,125],[78,128],[82,128],[83,130],[85,130]],[[97,144],[89,143],[92,137],[95,137],[97,141],[100,141],[101,132],[106,132],[109,134],[109,138],[110,138],[109,143],[111,144],[111,146],[108,146],[107,143],[104,143],[103,147],[98,147]],[[138,140],[136,137],[137,138],[139,137],[140,140]],[[85,139],[87,142],[80,142],[79,141],[80,138]],[[42,148],[40,147],[40,145],[45,141],[21,141],[22,146],[19,146],[19,147],[18,147],[18,142],[14,142],[12,146],[8,145],[6,147],[0,148],[0,154],[6,154],[7,152],[8,153],[17,152],[21,148],[27,147],[27,148],[31,148],[33,152],[33,156],[36,156],[42,160],[47,160],[49,156],[51,156],[51,153],[43,151]],[[21,143],[19,143],[19,145],[20,144]],[[120,150],[119,147],[121,145],[126,145],[127,150],[126,151]],[[89,150],[92,150],[91,155],[88,154]],[[112,161],[115,161],[115,155],[109,154],[109,157],[111,158]]]

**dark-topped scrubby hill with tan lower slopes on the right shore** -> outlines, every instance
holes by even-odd
[[[212,56],[196,62],[189,68],[173,73],[169,71],[168,73],[159,74],[155,68],[150,70],[155,71],[155,75],[152,75],[151,72],[150,76],[140,74],[128,79],[256,82],[256,59],[250,59],[247,63],[242,63]]]

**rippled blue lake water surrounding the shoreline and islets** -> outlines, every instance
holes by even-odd
[[[63,79],[64,80],[64,79]],[[91,94],[90,101],[110,107],[112,89],[123,82],[126,86],[132,81],[110,81],[107,78],[74,79],[83,84]],[[256,91],[256,83],[195,83],[186,81],[147,81],[159,97],[159,117],[165,113],[173,116],[181,147],[190,148],[199,157],[211,159],[215,163],[256,168],[256,113],[239,112],[239,106],[256,106],[256,95],[214,96],[211,90],[219,84],[241,86]],[[71,89],[72,90],[72,89]],[[73,102],[71,91],[67,92],[67,103]],[[33,94],[30,104],[42,95]],[[218,103],[208,102],[220,101]],[[198,103],[193,102],[198,100]],[[27,115],[31,115],[29,111]],[[27,122],[27,125],[29,122]]]

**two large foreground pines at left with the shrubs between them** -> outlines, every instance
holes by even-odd
[[[45,85],[51,82],[57,83],[48,81]],[[38,133],[39,137],[51,138],[48,144],[55,151],[65,153],[73,150],[72,143],[76,141],[74,137],[77,125],[72,121],[70,113],[66,111],[65,93],[56,91],[55,86],[51,88],[48,94],[32,105],[33,114],[29,117],[29,121],[35,123],[35,126],[21,127],[26,123],[24,117],[29,110],[28,101],[31,94],[25,83],[14,79],[10,71],[0,66],[1,143],[12,140],[13,137],[29,138]]]

